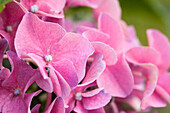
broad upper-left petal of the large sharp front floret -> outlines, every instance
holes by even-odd
[[[64,34],[65,30],[60,25],[44,22],[34,14],[27,13],[16,33],[17,54],[20,57],[26,57],[27,53],[39,56],[50,54],[51,47],[61,40]]]

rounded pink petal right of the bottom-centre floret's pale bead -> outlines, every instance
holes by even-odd
[[[85,95],[85,94],[84,94]],[[85,109],[93,110],[104,107],[109,103],[111,96],[101,90],[98,94],[91,97],[83,97],[82,103]]]

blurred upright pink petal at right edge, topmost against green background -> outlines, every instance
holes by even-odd
[[[160,31],[150,29],[147,31],[149,46],[160,52],[162,63],[159,67],[160,71],[167,71],[170,68],[170,43],[168,38]]]

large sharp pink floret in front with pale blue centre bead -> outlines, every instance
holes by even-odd
[[[31,13],[18,28],[15,47],[20,57],[37,63],[45,79],[50,74],[54,91],[60,96],[68,95],[70,87],[82,80],[86,60],[93,53],[90,42],[81,35],[66,33],[60,25],[43,22]]]

